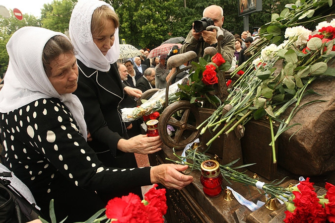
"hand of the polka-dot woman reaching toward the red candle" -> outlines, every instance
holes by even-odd
[[[193,181],[193,176],[181,173],[187,165],[161,164],[150,169],[151,183],[161,183],[168,189],[182,189]]]

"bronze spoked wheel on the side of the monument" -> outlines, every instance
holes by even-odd
[[[168,135],[167,125],[175,131]],[[158,132],[163,143],[175,149],[184,147],[198,138],[200,130],[199,108],[189,101],[177,101],[169,105],[161,114],[158,123]]]

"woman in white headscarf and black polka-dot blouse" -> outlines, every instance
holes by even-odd
[[[68,222],[85,221],[106,205],[96,191],[152,183],[180,189],[192,181],[178,172],[185,170],[183,165],[103,165],[87,145],[83,107],[71,94],[78,67],[64,34],[24,27],[10,38],[7,51],[0,91],[1,162],[28,186],[44,218],[51,199],[59,221],[67,216]]]

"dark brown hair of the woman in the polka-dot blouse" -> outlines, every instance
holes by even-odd
[[[45,44],[42,52],[43,68],[47,76],[51,75],[50,63],[62,54],[73,54],[74,49],[71,42],[64,36],[53,36]]]

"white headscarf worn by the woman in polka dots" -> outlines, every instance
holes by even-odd
[[[59,94],[51,84],[42,63],[43,48],[60,32],[40,27],[23,27],[9,39],[6,47],[9,64],[0,91],[0,112],[6,113],[40,98],[59,98],[69,109],[87,139],[84,109],[74,94]]]

